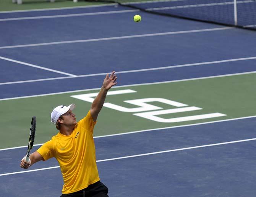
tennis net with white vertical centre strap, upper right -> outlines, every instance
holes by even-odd
[[[154,14],[256,30],[256,0],[87,0],[118,3]]]

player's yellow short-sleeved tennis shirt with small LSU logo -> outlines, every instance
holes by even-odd
[[[63,194],[79,191],[100,180],[92,135],[95,124],[89,111],[71,135],[59,132],[37,150],[44,161],[57,159],[64,181]]]

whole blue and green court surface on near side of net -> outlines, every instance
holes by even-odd
[[[76,103],[82,118],[91,103],[74,95],[96,93],[112,70],[118,84],[111,91],[133,93],[107,96],[131,112],[105,106],[94,130],[109,196],[255,195],[255,31],[112,4],[5,12],[0,26],[0,196],[61,195],[55,159],[19,167],[27,120],[37,115],[33,152],[56,135],[52,108]],[[145,98],[159,109],[139,116],[135,104],[123,103]],[[202,112],[167,113],[173,106],[156,98]],[[203,117],[214,113],[222,115]]]

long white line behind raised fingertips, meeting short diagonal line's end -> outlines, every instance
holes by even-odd
[[[250,60],[250,59],[256,59],[256,57],[225,59],[225,60],[220,60],[220,61],[199,62],[199,63],[192,63],[192,64],[181,64],[181,65],[175,65],[175,66],[156,67],[156,68],[150,68],[150,69],[125,70],[125,71],[118,71],[118,72],[116,72],[116,74],[131,73],[131,72],[145,72],[145,71],[151,71],[151,70],[171,69],[171,68],[186,67],[186,66],[199,66],[199,65],[205,65],[205,64],[218,64],[218,63],[223,63],[223,62],[233,62],[233,61],[242,61],[242,60]],[[252,72],[254,72],[254,71],[252,71]],[[252,72],[250,72],[250,73],[252,73]],[[107,73],[76,75],[75,77],[76,78],[92,77],[92,76],[99,76],[99,75],[106,75],[106,74]],[[74,77],[54,77],[54,78],[42,78],[42,79],[34,79],[34,80],[16,81],[16,82],[3,82],[3,83],[0,83],[0,85],[8,85],[8,84],[15,84],[15,83],[41,82],[41,81],[59,80],[59,79],[66,79],[66,78],[74,78]]]

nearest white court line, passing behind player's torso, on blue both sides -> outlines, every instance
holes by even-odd
[[[155,154],[161,154],[161,153],[166,153],[166,152],[184,151],[184,150],[190,150],[190,149],[197,149],[197,148],[210,147],[210,146],[219,146],[219,145],[224,145],[224,144],[233,144],[233,143],[240,143],[240,142],[253,141],[253,140],[256,140],[256,138],[243,139],[243,140],[237,140],[237,141],[229,141],[229,142],[223,142],[223,143],[217,143],[217,144],[207,144],[207,145],[201,145],[201,146],[193,146],[193,147],[187,147],[187,148],[181,148],[181,149],[172,149],[172,150],[167,150],[167,151],[149,152],[149,153],[145,153],[145,154],[130,155],[130,156],[125,156],[125,157],[116,157],[116,158],[111,158],[111,159],[102,159],[102,160],[97,160],[96,162],[106,162],[106,161],[112,161],[112,160],[127,159],[127,158],[132,158],[132,157],[155,155]],[[0,176],[14,175],[14,174],[27,173],[27,172],[40,171],[40,170],[49,170],[49,169],[59,168],[59,167],[60,166],[54,166],[54,167],[40,168],[40,169],[35,169],[35,170],[11,172],[11,173],[0,174]]]

